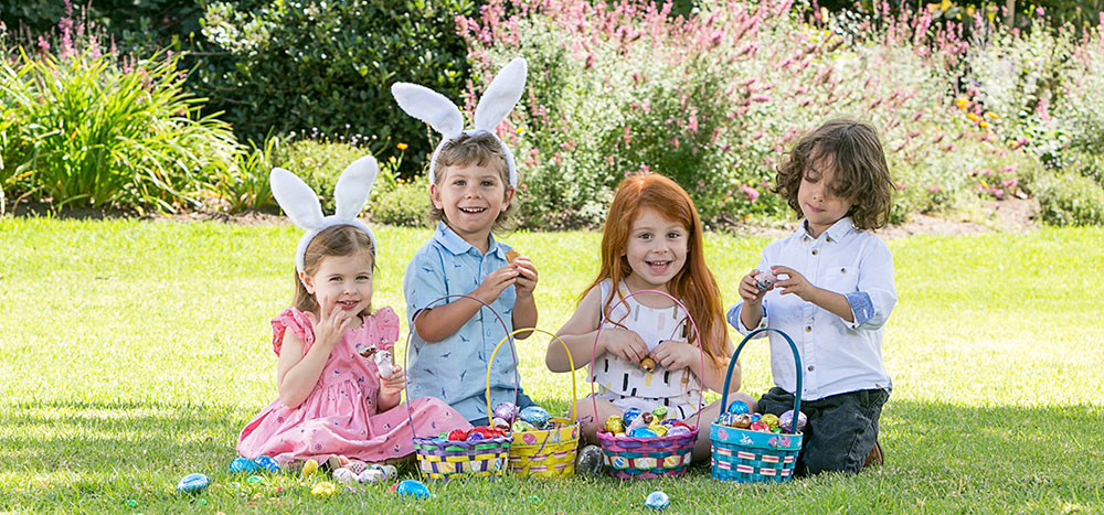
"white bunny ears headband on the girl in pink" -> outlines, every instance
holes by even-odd
[[[365,233],[372,238],[372,248],[379,251],[375,244],[375,235],[363,222],[357,218],[360,210],[368,201],[368,193],[372,191],[372,183],[375,182],[375,174],[380,165],[375,158],[364,155],[346,167],[338,178],[338,184],[333,186],[333,200],[337,204],[335,213],[330,216],[322,216],[322,206],[318,203],[318,196],[314,190],[302,182],[296,174],[282,168],[274,168],[268,174],[268,182],[272,184],[273,196],[276,203],[284,208],[287,217],[299,228],[307,232],[299,238],[299,245],[295,249],[295,269],[302,272],[302,257],[307,253],[310,240],[318,236],[318,233],[337,225],[351,225]]]

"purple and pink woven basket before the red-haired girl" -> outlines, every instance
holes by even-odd
[[[698,339],[698,348],[701,351],[702,368],[705,365],[705,352],[701,347],[701,334],[698,332],[698,324],[691,318],[690,310],[681,301],[669,293],[658,290],[639,290],[622,297],[606,311],[603,320],[609,319],[617,304],[624,303],[630,297],[639,293],[658,293],[665,296],[687,312],[687,318],[693,328],[693,334]],[[627,305],[627,304],[626,304]],[[594,346],[591,351],[591,369],[594,369],[595,352],[598,348],[598,336],[602,334],[602,325],[594,334]],[[595,423],[598,420],[598,404],[594,390],[594,382],[591,382],[591,401],[594,405]],[[620,480],[649,480],[655,478],[675,478],[682,475],[690,466],[691,451],[698,440],[698,428],[701,425],[701,397],[698,398],[698,414],[696,422],[690,426],[687,434],[664,436],[664,437],[615,437],[608,432],[598,430],[598,443],[602,448],[604,461],[609,471],[609,475]],[[601,428],[601,426],[599,426]]]

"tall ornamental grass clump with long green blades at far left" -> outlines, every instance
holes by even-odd
[[[32,53],[33,52],[33,53]],[[49,44],[0,63],[0,179],[57,207],[198,205],[234,161],[230,127],[183,92],[179,55],[145,60]]]

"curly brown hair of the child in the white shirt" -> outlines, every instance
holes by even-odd
[[[778,168],[774,192],[782,194],[798,215],[802,206],[797,191],[814,163],[835,170],[828,192],[851,203],[847,216],[856,228],[885,226],[895,186],[873,127],[848,119],[830,120],[803,136],[790,149]]]

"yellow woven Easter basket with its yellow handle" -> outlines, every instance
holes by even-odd
[[[571,351],[559,336],[540,329],[519,329],[502,339],[491,353],[491,362],[498,348],[511,336],[522,332],[537,332],[552,336],[563,345],[567,353],[567,362],[575,369],[575,363],[571,358]],[[487,375],[487,388],[490,389],[490,374]],[[575,374],[571,375],[571,419],[553,417],[563,423],[558,429],[535,430],[513,433],[513,443],[510,444],[510,473],[529,478],[566,478],[575,473],[575,454],[578,452],[578,421],[575,418],[575,404],[577,401],[575,389]],[[490,398],[487,399],[487,412],[490,414]]]

